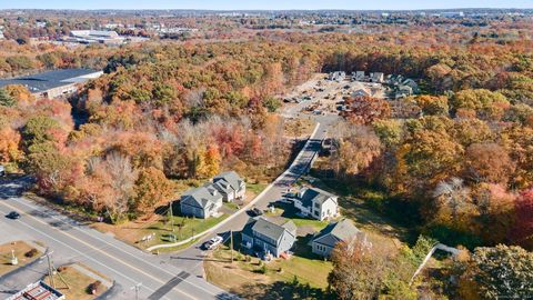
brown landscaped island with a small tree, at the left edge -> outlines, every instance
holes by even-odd
[[[18,259],[17,266],[11,264],[12,250]],[[39,259],[41,254],[39,250],[23,241],[0,244],[0,276]]]

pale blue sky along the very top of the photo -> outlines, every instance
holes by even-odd
[[[529,8],[533,0],[0,0],[0,9],[413,10]]]

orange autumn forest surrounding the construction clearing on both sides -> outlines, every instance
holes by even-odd
[[[69,101],[0,89],[0,163],[34,174],[53,201],[121,222],[177,197],[180,180],[228,168],[252,181],[279,174],[293,150],[280,98],[314,73],[403,74],[422,94],[346,99],[356,109],[332,137],[335,179],[385,191],[420,218],[418,231],[442,242],[531,251],[532,30],[505,21],[372,34],[269,30],[242,41],[73,50],[2,41],[2,76],[70,67],[105,74]],[[72,111],[88,121],[74,126]]]

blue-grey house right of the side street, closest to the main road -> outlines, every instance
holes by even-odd
[[[250,218],[241,234],[242,247],[255,251],[261,258],[279,258],[296,241],[296,226],[282,218]]]

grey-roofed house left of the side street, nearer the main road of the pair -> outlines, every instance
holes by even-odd
[[[208,219],[219,213],[223,196],[212,183],[187,191],[180,201],[181,213]]]

